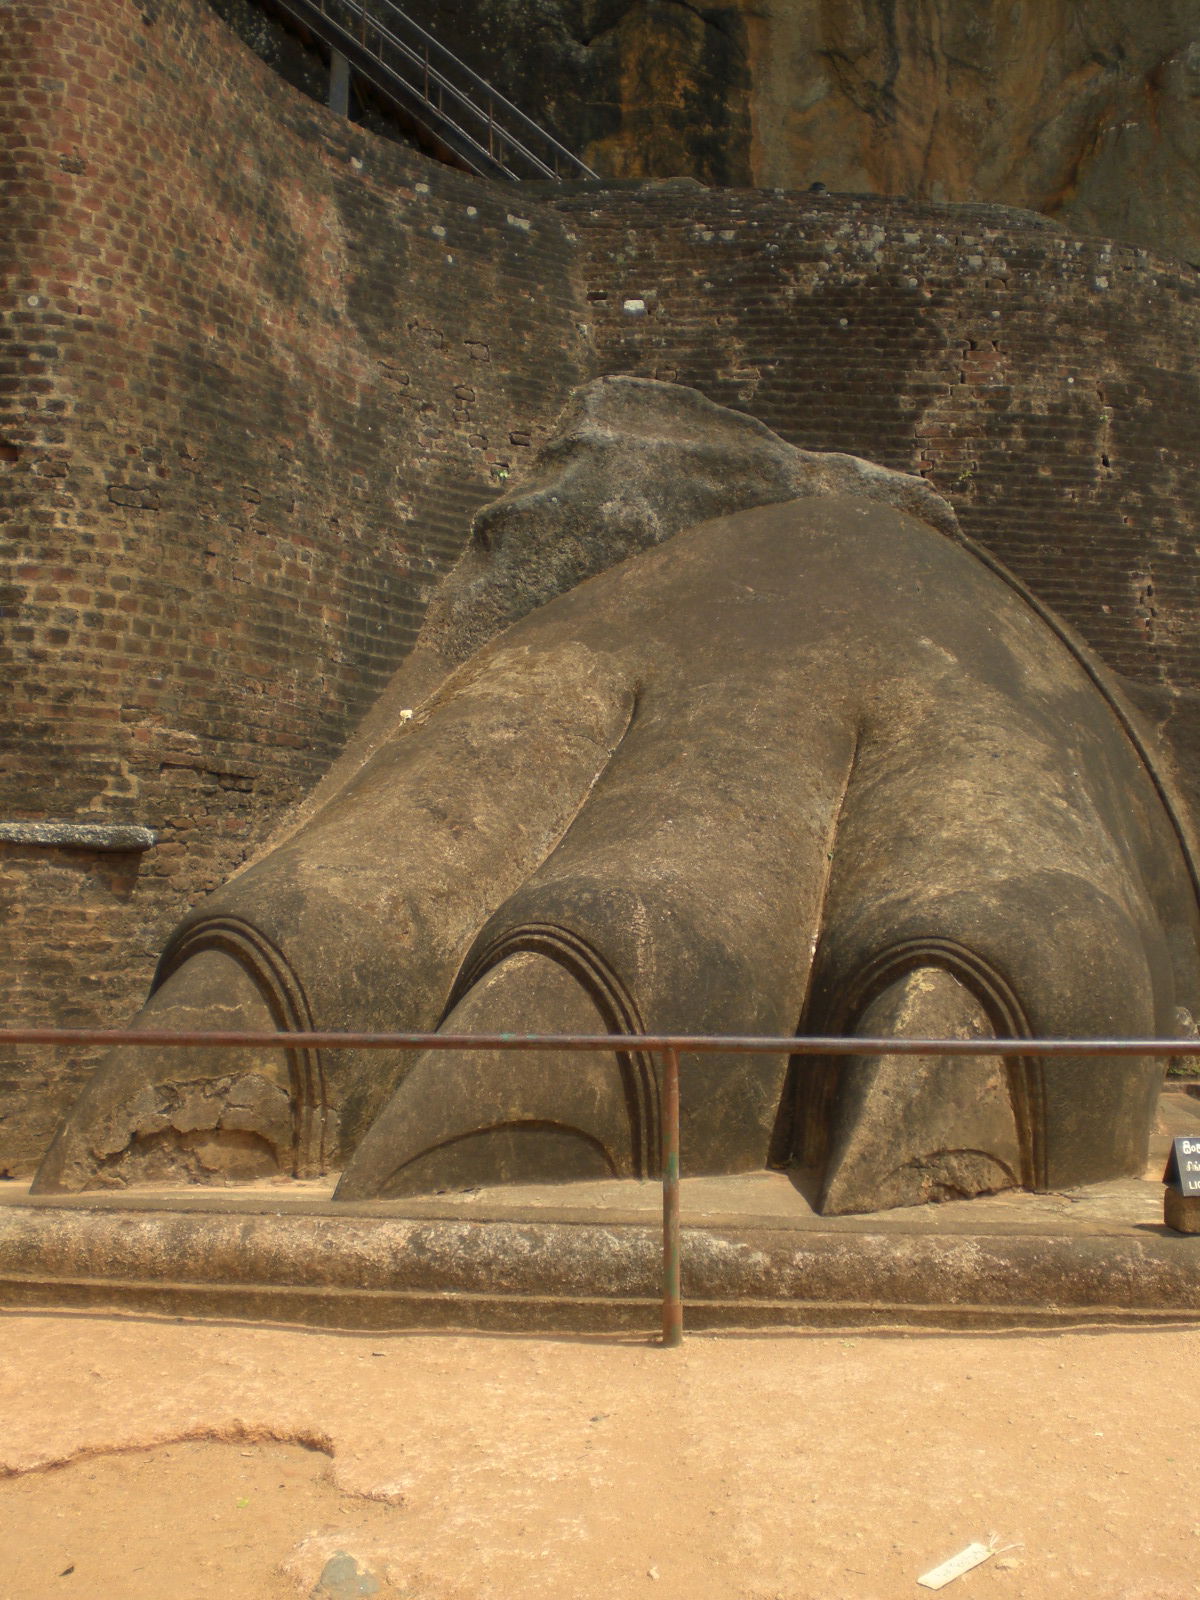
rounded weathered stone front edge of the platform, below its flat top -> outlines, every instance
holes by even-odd
[[[661,1237],[640,1222],[11,1205],[0,1307],[326,1328],[654,1330]],[[1200,1322],[1200,1250],[1128,1234],[685,1227],[704,1328],[1061,1328]]]

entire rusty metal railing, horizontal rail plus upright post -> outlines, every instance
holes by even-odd
[[[218,1050],[603,1050],[662,1058],[662,1344],[683,1342],[680,1272],[680,1054],[730,1056],[1200,1056],[1200,1038],[848,1038],[720,1034],[253,1034],[170,1029],[2,1027],[0,1045],[138,1045]]]

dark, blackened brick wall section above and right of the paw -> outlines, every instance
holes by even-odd
[[[606,371],[922,472],[1117,670],[1200,688],[1200,275],[1027,213],[558,202]]]

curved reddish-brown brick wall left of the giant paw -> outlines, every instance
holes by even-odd
[[[582,318],[558,218],[302,99],[203,0],[16,0],[0,51],[0,819],[160,838],[0,845],[0,987],[106,1022],[402,658]],[[0,1067],[0,1170],[82,1064]]]

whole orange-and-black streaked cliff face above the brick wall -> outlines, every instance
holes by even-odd
[[[1200,259],[1194,0],[411,0],[606,178],[1029,206]]]

